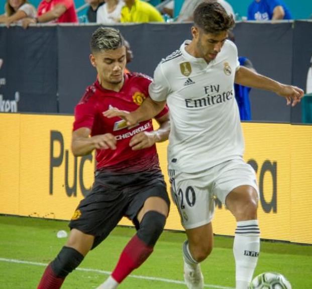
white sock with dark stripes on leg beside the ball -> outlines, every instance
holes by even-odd
[[[247,289],[260,251],[258,220],[237,222],[233,252],[236,264],[236,289]]]

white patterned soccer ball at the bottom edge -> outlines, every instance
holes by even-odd
[[[248,289],[291,289],[291,285],[282,274],[265,272],[255,277]]]

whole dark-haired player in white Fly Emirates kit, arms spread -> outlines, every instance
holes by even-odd
[[[184,279],[190,289],[203,288],[199,263],[212,251],[214,197],[237,220],[234,238],[236,289],[247,289],[257,264],[260,230],[258,186],[254,170],[242,158],[244,141],[234,82],[273,91],[296,105],[303,91],[240,67],[228,38],[232,16],[215,1],[194,11],[192,40],[163,59],[146,99],[135,112],[109,110],[134,125],[157,115],[167,103],[171,131],[168,169],[173,196],[187,241],[183,244]]]

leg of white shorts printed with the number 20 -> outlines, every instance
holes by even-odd
[[[169,175],[182,226],[188,230],[209,224],[215,212],[209,171],[189,174],[170,170]]]

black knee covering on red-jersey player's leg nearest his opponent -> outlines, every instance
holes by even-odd
[[[145,213],[138,230],[138,237],[148,246],[154,247],[166,223],[166,217],[156,211]]]

